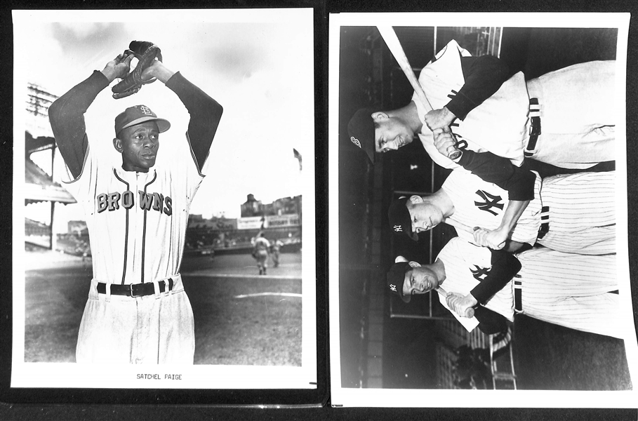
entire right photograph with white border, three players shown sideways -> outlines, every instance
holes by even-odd
[[[333,405],[635,405],[628,23],[331,14]]]

